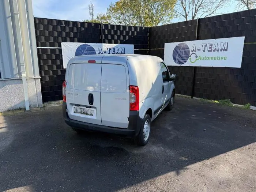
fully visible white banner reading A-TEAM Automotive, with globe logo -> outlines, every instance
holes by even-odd
[[[244,37],[207,39],[165,44],[166,65],[241,67]]]

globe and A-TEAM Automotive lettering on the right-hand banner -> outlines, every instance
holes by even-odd
[[[216,56],[216,54],[211,56],[211,53],[227,52],[228,45],[228,42],[193,44],[190,49],[187,44],[180,43],[173,49],[173,61],[182,65],[188,60],[190,63],[195,63],[198,60],[227,60],[225,56]],[[200,55],[202,52],[203,55],[207,54],[209,56]]]

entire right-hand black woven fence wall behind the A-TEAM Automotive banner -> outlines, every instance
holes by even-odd
[[[196,20],[153,27],[150,54],[163,59],[169,42],[245,36],[241,68],[196,67],[194,96],[256,106],[256,9],[199,19],[195,34]],[[169,69],[177,74],[176,93],[192,95],[194,67]]]

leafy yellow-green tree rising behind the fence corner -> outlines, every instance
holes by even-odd
[[[109,5],[95,22],[115,25],[154,27],[170,23],[177,0],[119,0]]]

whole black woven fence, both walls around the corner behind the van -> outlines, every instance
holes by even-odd
[[[62,99],[61,42],[133,44],[136,54],[163,59],[165,43],[245,36],[241,68],[196,67],[194,96],[256,106],[256,9],[199,19],[198,26],[197,20],[151,28],[44,18],[34,21],[37,46],[44,47],[38,48],[43,101]],[[176,93],[192,95],[194,67],[169,69],[177,74]]]

